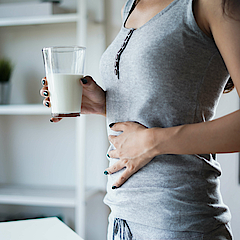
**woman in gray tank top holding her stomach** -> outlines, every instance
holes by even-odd
[[[81,79],[82,113],[109,125],[109,240],[232,239],[215,154],[240,151],[240,111],[211,119],[229,74],[240,93],[239,14],[239,0],[128,0],[106,90]]]

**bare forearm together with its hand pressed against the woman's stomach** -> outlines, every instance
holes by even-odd
[[[148,129],[134,122],[125,122],[114,124],[112,130],[123,131],[118,137],[109,136],[116,147],[109,156],[120,160],[106,172],[113,174],[126,167],[115,187],[120,187],[160,154],[240,152],[240,111],[213,121],[177,127]]]

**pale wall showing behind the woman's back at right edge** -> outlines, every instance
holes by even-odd
[[[239,97],[237,91],[222,95],[215,118],[224,116],[239,109]],[[239,154],[218,154],[217,160],[222,166],[221,191],[223,200],[232,213],[232,230],[235,239],[240,239],[240,184],[239,174]]]

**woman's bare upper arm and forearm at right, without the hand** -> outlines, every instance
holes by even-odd
[[[240,95],[240,11],[222,12],[221,0],[199,0],[196,14],[212,35]],[[234,19],[236,18],[236,19]],[[156,140],[161,129],[154,129]],[[168,129],[157,152],[175,154],[231,153],[240,151],[240,110],[222,118]]]

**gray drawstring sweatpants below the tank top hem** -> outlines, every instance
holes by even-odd
[[[177,232],[153,228],[109,216],[108,240],[233,240],[230,226],[209,233]]]

